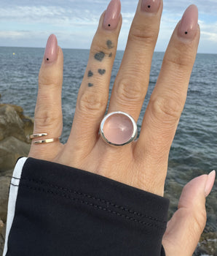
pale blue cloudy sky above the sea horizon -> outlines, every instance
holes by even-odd
[[[0,0],[0,46],[44,48],[55,34],[62,48],[89,49],[109,0]],[[137,0],[122,0],[118,50],[124,50]],[[201,29],[199,53],[217,53],[217,0],[164,0],[156,51],[165,51],[186,7],[196,4]]]

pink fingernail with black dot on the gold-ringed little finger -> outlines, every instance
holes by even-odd
[[[56,59],[58,59],[58,39],[55,37],[55,34],[51,34],[47,39],[44,60],[46,63],[52,63]]]

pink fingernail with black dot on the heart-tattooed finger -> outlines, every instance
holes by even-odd
[[[103,28],[108,30],[113,30],[117,28],[119,23],[119,17],[121,13],[121,1],[120,0],[111,0],[108,4],[104,21]]]

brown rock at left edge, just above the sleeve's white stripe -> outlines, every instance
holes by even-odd
[[[13,169],[18,157],[27,157],[30,144],[8,137],[0,141],[0,173],[4,170]],[[1,184],[1,182],[0,182]]]

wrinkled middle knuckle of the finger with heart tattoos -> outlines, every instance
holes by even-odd
[[[106,108],[107,97],[97,94],[95,91],[85,90],[78,100],[77,108],[81,112],[101,112]]]

